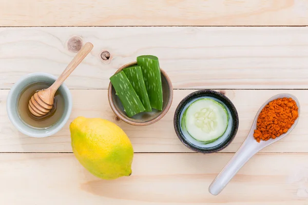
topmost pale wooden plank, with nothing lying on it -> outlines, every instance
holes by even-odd
[[[308,25],[308,1],[1,0],[0,26]]]

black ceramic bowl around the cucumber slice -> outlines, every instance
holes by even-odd
[[[181,116],[181,113],[183,112],[183,109],[192,100],[199,98],[199,97],[213,97],[213,98],[220,100],[229,110],[230,119],[232,120],[232,126],[230,127],[226,138],[224,138],[223,140],[221,139],[222,141],[220,142],[220,144],[217,144],[219,142],[216,142],[216,143],[213,142],[213,145],[214,145],[213,147],[210,147],[211,144],[207,144],[208,147],[204,148],[197,144],[192,143],[185,137],[185,134],[183,133],[180,127],[180,116]],[[179,139],[182,141],[182,143],[186,147],[196,152],[213,153],[213,152],[218,152],[218,151],[223,150],[233,141],[238,131],[239,117],[238,117],[238,113],[237,113],[235,106],[225,95],[219,92],[216,92],[214,90],[199,90],[199,91],[196,91],[194,93],[187,95],[178,105],[176,112],[175,112],[175,117],[174,117],[174,126],[175,126],[175,131]]]

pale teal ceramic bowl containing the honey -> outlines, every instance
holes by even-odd
[[[61,118],[51,127],[46,129],[30,127],[20,118],[20,115],[18,114],[18,99],[20,98],[21,92],[25,87],[37,82],[52,84],[55,80],[56,77],[48,73],[32,73],[19,79],[11,88],[7,98],[7,113],[12,124],[23,134],[30,137],[51,136],[59,132],[69,119],[72,110],[72,97],[69,89],[64,84],[59,87],[59,91],[64,97],[64,113]]]

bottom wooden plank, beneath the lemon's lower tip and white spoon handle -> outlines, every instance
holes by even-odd
[[[232,155],[135,154],[131,176],[107,181],[92,176],[73,154],[0,154],[1,201],[2,204],[307,204],[308,154],[257,154],[220,195],[209,194],[210,182]]]

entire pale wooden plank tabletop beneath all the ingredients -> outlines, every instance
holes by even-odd
[[[308,204],[307,0],[0,3],[0,204]],[[33,72],[59,76],[76,45],[87,41],[94,49],[66,81],[73,109],[65,127],[46,138],[18,132],[6,112],[15,81]],[[133,127],[115,117],[106,89],[119,67],[142,54],[159,57],[174,102],[156,124]],[[174,132],[178,103],[198,89],[224,93],[239,112],[238,134],[219,153],[191,152]],[[220,195],[210,195],[209,184],[259,107],[284,92],[301,103],[295,130],[249,160]],[[80,115],[108,119],[127,133],[136,152],[130,177],[101,180],[80,165],[68,129]]]

